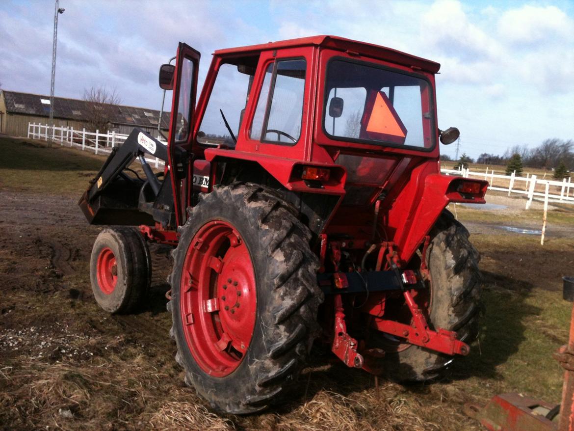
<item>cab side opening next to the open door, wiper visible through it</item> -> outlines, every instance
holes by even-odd
[[[219,67],[197,133],[198,143],[235,146],[254,73],[255,68],[246,65],[222,64]],[[229,128],[225,124],[226,121]]]

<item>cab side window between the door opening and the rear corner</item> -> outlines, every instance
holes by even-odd
[[[267,67],[251,139],[285,144],[299,140],[306,71],[307,62],[303,59],[278,60]]]

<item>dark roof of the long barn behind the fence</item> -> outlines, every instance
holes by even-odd
[[[6,111],[11,114],[50,116],[50,97],[40,94],[18,93],[2,90],[6,101]],[[54,117],[65,120],[87,121],[91,102],[79,99],[54,98]],[[111,106],[111,105],[108,105]],[[117,105],[112,110],[114,124],[127,124],[156,128],[160,111],[135,106]],[[169,112],[162,114],[162,128],[168,128]]]

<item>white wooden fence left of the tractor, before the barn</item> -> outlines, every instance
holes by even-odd
[[[86,129],[75,130],[73,127],[57,127],[48,124],[28,123],[28,138],[39,139],[48,141],[59,142],[60,145],[68,145],[70,147],[81,148],[83,151],[91,151],[95,154],[104,153],[109,154],[111,149],[122,145],[127,134],[106,132],[100,133],[99,130],[95,132],[86,132]],[[162,137],[157,138],[161,142],[165,142]],[[164,161],[155,157],[154,159],[146,158],[148,163],[154,163],[156,168],[163,166]]]

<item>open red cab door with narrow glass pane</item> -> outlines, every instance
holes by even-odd
[[[197,93],[199,58],[199,52],[189,45],[179,43],[169,123],[168,166],[165,172],[172,181],[173,205],[178,226],[184,224],[185,207],[189,205],[188,181],[185,178],[189,178],[192,174],[191,125]]]

